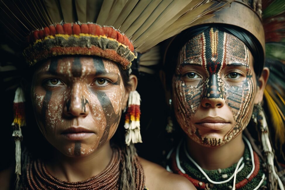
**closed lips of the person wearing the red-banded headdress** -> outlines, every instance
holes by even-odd
[[[88,138],[95,133],[84,127],[70,127],[62,131],[61,135],[68,138],[69,140],[83,140]]]

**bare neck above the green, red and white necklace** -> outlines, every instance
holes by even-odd
[[[242,133],[219,147],[205,147],[187,138],[188,153],[206,170],[231,167],[243,156],[244,149]]]

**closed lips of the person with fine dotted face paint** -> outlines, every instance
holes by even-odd
[[[205,117],[195,124],[206,129],[219,130],[231,124],[231,122],[221,117]]]

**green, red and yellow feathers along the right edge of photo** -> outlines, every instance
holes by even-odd
[[[282,0],[269,0],[262,4],[265,30],[265,66],[270,70],[264,91],[270,127],[275,138],[275,148],[283,154],[285,144],[285,4]]]

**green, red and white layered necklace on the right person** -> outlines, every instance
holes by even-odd
[[[171,162],[167,169],[186,177],[198,189],[260,189],[266,184],[265,174],[260,170],[257,153],[253,151],[248,139],[245,137],[243,139],[247,144],[244,155],[232,167],[203,170],[187,152],[186,143],[184,143],[184,151],[180,153],[181,141],[176,151],[172,150],[169,153],[168,159],[171,158]]]

